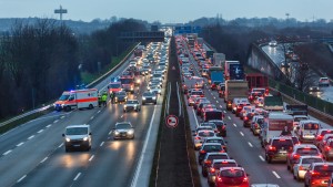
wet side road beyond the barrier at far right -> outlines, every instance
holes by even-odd
[[[261,48],[271,59],[272,61],[281,67],[281,62],[284,61],[284,52],[281,44],[278,44],[278,46],[272,48],[270,45],[263,45]],[[293,62],[292,64],[295,64],[296,62]],[[284,72],[284,67],[281,67],[281,70]],[[312,79],[314,83],[317,83],[320,75],[311,71]],[[314,84],[313,86],[315,86]],[[321,92],[311,93],[314,96],[321,97],[322,100],[326,100],[329,102],[333,102],[333,86],[329,87],[320,87]]]

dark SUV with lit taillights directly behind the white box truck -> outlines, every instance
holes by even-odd
[[[265,160],[286,162],[287,154],[293,149],[293,139],[289,136],[272,137],[265,146]]]

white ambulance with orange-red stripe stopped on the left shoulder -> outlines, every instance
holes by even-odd
[[[64,91],[53,104],[56,111],[71,111],[72,108],[90,108],[98,106],[98,90],[84,89]]]

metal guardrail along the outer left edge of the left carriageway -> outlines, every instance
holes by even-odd
[[[137,49],[137,46],[140,45],[140,42],[123,58],[122,61],[120,61],[114,67],[112,67],[110,71],[108,71],[107,73],[104,73],[103,75],[101,75],[99,79],[94,80],[93,82],[91,82],[90,84],[87,85],[87,87],[92,87],[94,86],[95,84],[98,84],[99,82],[101,82],[103,79],[105,79],[107,76],[109,76],[112,72],[114,72],[120,65],[122,65],[133,53],[133,51]],[[8,125],[14,121],[18,121],[18,120],[21,120],[23,117],[27,117],[29,115],[32,115],[32,114],[36,114],[36,113],[39,113],[39,112],[43,112],[43,111],[47,111],[49,110],[50,107],[52,107],[52,104],[49,104],[47,106],[43,106],[43,107],[40,107],[40,108],[37,108],[37,110],[33,110],[33,111],[29,111],[24,114],[21,114],[21,115],[18,115],[16,117],[12,117],[6,122],[2,122],[0,123],[0,127],[4,126],[4,125]]]

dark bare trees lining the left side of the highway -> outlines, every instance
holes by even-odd
[[[0,39],[0,118],[57,98],[81,84],[80,72],[95,73],[131,43],[121,32],[144,31],[143,22],[122,20],[90,35],[75,35],[58,21],[16,22]]]

